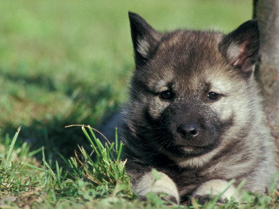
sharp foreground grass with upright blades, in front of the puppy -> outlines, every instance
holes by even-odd
[[[126,174],[126,161],[120,160],[123,144],[100,143],[90,126],[82,126],[82,132],[91,144],[87,153],[79,147],[79,154],[61,159],[66,166],[57,161],[45,159],[44,148],[42,162],[34,159],[36,152],[30,153],[29,147],[15,148],[20,128],[15,137],[6,137],[0,152],[0,207],[1,208],[278,208],[279,192],[271,187],[266,194],[252,194],[242,191],[243,202],[226,200],[223,205],[217,203],[218,197],[204,206],[192,199],[193,206],[174,205],[163,201],[149,192],[147,201],[142,202],[133,193],[130,176]],[[94,159],[94,160],[93,160]],[[52,166],[53,164],[53,166]],[[156,175],[156,172],[154,175]],[[156,176],[157,178],[158,175]],[[229,184],[234,183],[230,182]],[[229,187],[229,185],[228,185]],[[239,187],[241,189],[241,186]],[[224,191],[225,192],[225,191]]]

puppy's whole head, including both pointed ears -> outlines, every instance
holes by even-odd
[[[239,121],[237,109],[248,105],[243,98],[255,64],[250,54],[258,49],[253,45],[255,23],[224,36],[203,31],[163,34],[137,15],[130,21],[136,64],[131,97],[145,129],[138,136],[177,156],[213,150]]]

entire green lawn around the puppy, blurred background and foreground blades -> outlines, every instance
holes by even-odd
[[[98,127],[126,101],[128,10],[162,31],[229,32],[252,17],[252,1],[0,1],[0,208],[186,207],[154,194],[141,202],[120,141],[102,147],[91,128],[65,128]],[[276,196],[245,193],[241,207],[276,208]]]

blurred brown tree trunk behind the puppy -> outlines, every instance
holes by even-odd
[[[272,135],[279,139],[279,0],[254,0],[253,6],[260,35],[256,76],[262,82]]]

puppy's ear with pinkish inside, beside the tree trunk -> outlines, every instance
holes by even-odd
[[[234,68],[252,74],[259,52],[257,20],[244,22],[238,29],[224,36],[219,49]]]

